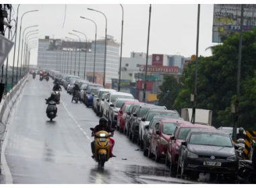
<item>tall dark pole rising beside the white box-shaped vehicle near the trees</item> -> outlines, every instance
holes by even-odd
[[[199,53],[199,31],[200,31],[200,3],[198,3],[198,11],[197,11],[197,54],[195,60],[195,89],[194,89],[194,97],[193,97],[193,113],[191,123],[195,124],[195,109],[197,107],[197,75],[198,75],[198,53]],[[192,98],[192,97],[191,97]]]

